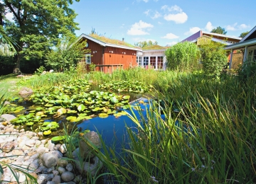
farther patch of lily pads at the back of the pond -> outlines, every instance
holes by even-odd
[[[103,83],[99,85],[102,89],[107,89],[111,91],[124,92],[129,91],[132,93],[146,93],[151,91],[153,86],[143,84],[139,81],[111,81],[108,83]]]

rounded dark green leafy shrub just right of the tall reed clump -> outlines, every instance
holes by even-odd
[[[228,63],[228,58],[223,47],[224,45],[215,42],[201,46],[201,62],[203,64],[203,71],[208,76],[220,76],[221,71]]]

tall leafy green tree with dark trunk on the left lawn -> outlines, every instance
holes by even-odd
[[[79,1],[79,0],[75,0]],[[73,0],[2,0],[0,23],[6,32],[16,40],[16,66],[20,72],[21,56],[42,58],[50,47],[58,43],[63,35],[75,36],[77,14],[69,8]],[[6,20],[6,13],[12,13],[14,22]]]

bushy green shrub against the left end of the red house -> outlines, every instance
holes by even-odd
[[[75,42],[63,38],[54,50],[51,50],[46,55],[46,65],[55,71],[65,71],[76,67],[78,62],[85,56],[85,53],[90,50],[84,50],[85,41]]]

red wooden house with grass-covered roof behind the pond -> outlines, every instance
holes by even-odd
[[[90,49],[90,53],[85,54],[86,64],[96,64],[96,69],[110,72],[121,67],[137,66],[137,51],[142,52],[141,48],[129,45],[127,42],[105,38],[97,34],[82,34],[78,40],[86,40],[85,49]]]

